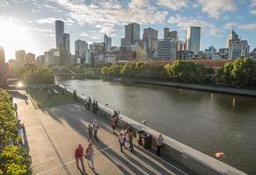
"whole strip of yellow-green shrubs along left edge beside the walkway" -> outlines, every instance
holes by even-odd
[[[31,174],[30,157],[23,147],[6,146],[11,141],[18,144],[18,119],[14,115],[10,95],[0,89],[0,174]]]

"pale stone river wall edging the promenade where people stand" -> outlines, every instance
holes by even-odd
[[[58,85],[60,88],[67,90],[71,95],[73,90],[65,88],[62,85]],[[84,104],[86,97],[77,93],[77,101]],[[98,115],[106,117],[109,121],[112,120],[113,109],[109,109],[106,106],[99,104]],[[128,116],[119,115],[118,126],[128,125],[135,131],[143,130],[151,135],[150,147],[156,149],[156,138],[158,135],[157,130],[152,130],[149,127],[143,125],[142,123],[135,122]],[[186,144],[181,144],[178,141],[172,139],[171,137],[164,137],[164,147],[161,150],[161,154],[166,158],[175,160],[181,165],[185,165],[188,169],[198,174],[203,175],[245,175],[245,172],[241,172],[238,169],[226,165],[223,162],[211,158],[208,155],[196,151],[193,148],[187,146]]]

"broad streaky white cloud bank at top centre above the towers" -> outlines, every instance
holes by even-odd
[[[132,0],[127,5],[116,0],[98,0],[91,4],[84,1],[57,0],[53,1],[69,11],[69,17],[80,25],[84,24],[119,24],[131,22],[139,24],[155,24],[165,21],[167,11],[157,11],[151,0]]]

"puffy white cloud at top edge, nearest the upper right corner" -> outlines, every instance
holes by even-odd
[[[211,18],[220,18],[223,12],[237,10],[235,0],[197,0],[197,2],[201,5],[201,11]]]

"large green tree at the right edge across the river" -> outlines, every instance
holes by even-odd
[[[232,63],[226,63],[218,70],[216,79],[224,84],[236,86],[252,85],[256,75],[256,62],[248,58],[240,58]]]

